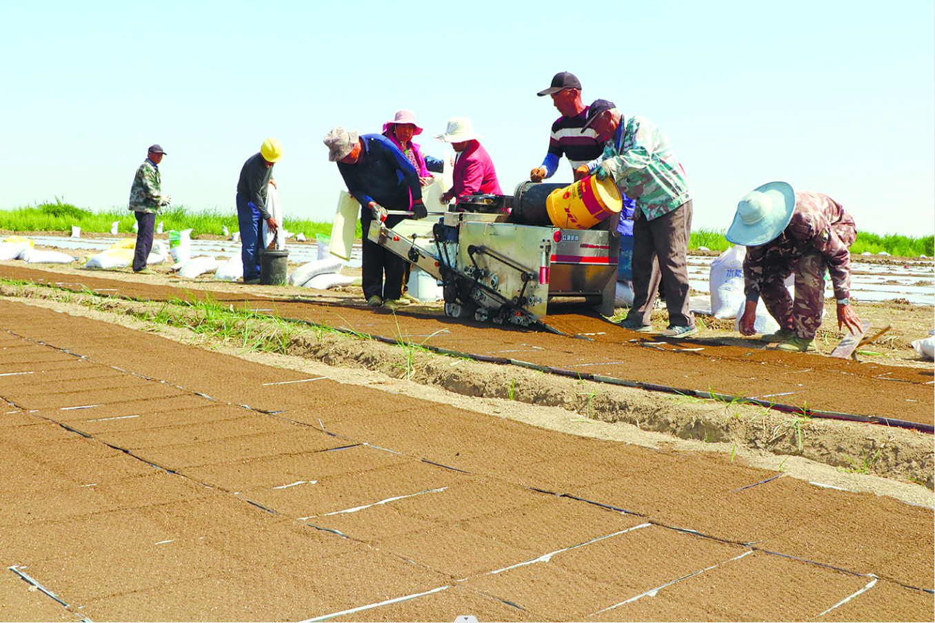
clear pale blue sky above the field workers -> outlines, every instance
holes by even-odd
[[[333,218],[332,127],[399,108],[432,135],[467,116],[511,191],[541,163],[556,72],[654,120],[726,229],[768,181],[824,192],[859,230],[935,230],[931,0],[783,3],[3,2],[0,209],[126,205],[146,148],[173,204],[234,211],[240,166],[281,140],[283,211]],[[549,181],[572,180],[568,162]]]

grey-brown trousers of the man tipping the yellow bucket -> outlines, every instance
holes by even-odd
[[[669,308],[669,326],[695,326],[695,316],[688,310],[688,266],[685,263],[691,233],[690,201],[653,220],[647,220],[640,210],[633,223],[633,307],[627,319],[650,324],[655,300],[655,264],[658,264]]]

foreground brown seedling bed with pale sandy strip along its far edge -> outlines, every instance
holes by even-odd
[[[7,620],[930,618],[931,509],[833,484],[891,482],[109,303],[0,300]]]

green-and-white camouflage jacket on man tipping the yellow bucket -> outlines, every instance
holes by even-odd
[[[692,199],[692,189],[675,159],[669,137],[645,117],[623,116],[617,135],[605,144],[604,155],[589,163],[588,168],[600,161],[607,164],[617,188],[636,200],[637,208],[648,220],[668,214]]]

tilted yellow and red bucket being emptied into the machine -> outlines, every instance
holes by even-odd
[[[611,177],[584,177],[571,186],[557,189],[545,200],[555,227],[591,229],[603,219],[620,212],[623,200]]]

